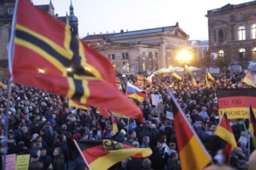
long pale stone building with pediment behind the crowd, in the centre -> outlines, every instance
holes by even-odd
[[[187,48],[188,38],[179,23],[176,23],[154,29],[122,29],[120,33],[111,36],[85,36],[83,40],[89,46],[94,44],[91,48],[108,57],[118,73],[146,74],[177,65],[176,56],[179,51]]]

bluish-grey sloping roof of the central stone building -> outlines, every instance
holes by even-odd
[[[144,35],[144,34],[152,34],[157,32],[163,32],[163,31],[169,31],[174,28],[177,28],[178,25],[174,26],[167,26],[167,27],[159,27],[155,29],[141,29],[141,30],[133,30],[128,32],[121,32],[116,36],[111,36],[111,38],[117,38],[117,37],[123,37],[123,36],[138,36],[138,35]]]

